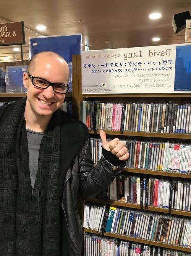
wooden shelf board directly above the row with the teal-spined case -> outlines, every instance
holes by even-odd
[[[114,206],[122,206],[122,207],[127,207],[127,208],[133,208],[133,209],[141,209],[141,206],[135,203],[125,203],[124,201],[120,201],[120,200],[102,200],[102,199],[97,199],[97,198],[86,198],[86,201],[89,202],[94,202],[94,203],[107,203],[109,205],[114,205]],[[157,211],[159,213],[170,213],[170,214],[175,214],[175,215],[180,215],[180,216],[191,216],[191,212],[190,211],[181,211],[181,210],[173,210],[171,212],[168,211],[167,208],[160,208],[160,207],[155,207],[155,206],[148,206],[148,209],[145,208],[145,206],[143,205],[143,210],[147,210],[147,211]]]

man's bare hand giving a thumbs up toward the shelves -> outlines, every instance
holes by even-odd
[[[99,134],[102,140],[102,147],[105,150],[110,151],[113,155],[116,155],[119,160],[125,161],[128,159],[129,153],[127,151],[127,148],[125,147],[124,142],[121,142],[117,138],[107,141],[104,130],[100,130]]]

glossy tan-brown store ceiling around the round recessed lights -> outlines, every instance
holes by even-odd
[[[88,45],[89,50],[97,50],[184,43],[185,30],[175,34],[171,21],[173,14],[185,11],[191,12],[191,0],[2,0],[0,23],[24,21],[23,52],[27,60],[29,37],[42,33],[83,33],[83,50],[84,45]],[[150,20],[152,12],[160,12],[162,18]],[[47,26],[47,30],[36,33],[39,24]],[[155,36],[161,40],[154,43]],[[20,53],[14,53],[13,47],[0,46],[0,60],[5,56],[20,60]]]

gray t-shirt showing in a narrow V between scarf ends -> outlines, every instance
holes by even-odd
[[[42,140],[44,132],[34,132],[32,130],[26,129],[26,134],[28,139],[29,170],[30,170],[31,187],[32,187],[32,193],[33,193],[34,183],[36,180],[36,175],[38,170],[40,142]]]

